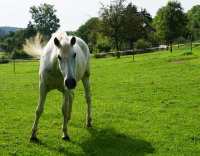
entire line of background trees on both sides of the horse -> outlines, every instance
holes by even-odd
[[[26,29],[0,38],[0,47],[5,51],[22,51],[27,38],[40,32],[49,39],[60,27],[53,5],[44,3],[32,6],[29,11],[32,20]],[[77,31],[68,30],[67,33],[81,37],[94,53],[145,48],[162,42],[172,47],[174,41],[185,40],[188,36],[200,39],[200,5],[185,13],[180,2],[169,1],[152,19],[146,9],[139,9],[132,2],[113,0],[110,5],[102,4],[99,17],[92,17]]]

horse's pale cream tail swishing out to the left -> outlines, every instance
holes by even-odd
[[[26,40],[25,44],[23,45],[23,50],[28,55],[40,57],[43,51],[42,41],[43,36],[38,33],[35,37]]]

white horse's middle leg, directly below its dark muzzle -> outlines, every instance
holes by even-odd
[[[74,93],[66,92],[63,94],[63,105],[62,105],[62,113],[63,113],[63,140],[70,140],[68,135],[68,128],[67,124],[71,118],[71,111],[72,111],[72,102],[74,98]]]

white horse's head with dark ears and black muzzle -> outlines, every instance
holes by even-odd
[[[76,38],[68,36],[54,38],[54,44],[57,47],[57,59],[59,69],[64,78],[64,85],[68,89],[74,89],[76,87],[75,78],[75,61],[76,52],[74,51],[74,45],[76,43]]]

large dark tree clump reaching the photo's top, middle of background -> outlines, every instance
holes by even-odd
[[[103,30],[113,39],[117,50],[125,47],[133,48],[133,42],[139,38],[147,38],[150,32],[151,15],[133,3],[125,4],[125,0],[115,0],[109,6],[102,6],[100,17]]]

